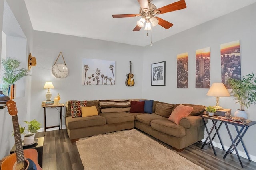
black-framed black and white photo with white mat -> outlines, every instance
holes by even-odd
[[[151,64],[151,86],[165,86],[165,61]]]

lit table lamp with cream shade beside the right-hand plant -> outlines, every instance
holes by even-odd
[[[217,110],[223,109],[219,106],[219,97],[230,96],[228,90],[223,83],[213,83],[206,95],[216,97],[216,106],[213,107]]]

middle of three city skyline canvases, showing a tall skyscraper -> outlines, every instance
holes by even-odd
[[[210,88],[210,47],[196,50],[196,88]]]

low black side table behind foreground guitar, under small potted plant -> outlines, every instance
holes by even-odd
[[[33,144],[33,145],[29,145],[29,146],[23,146],[23,149],[29,149],[29,148],[33,148],[33,149],[36,149],[37,151],[37,161],[38,161],[38,164],[42,167],[43,166],[43,147],[44,147],[44,137],[39,137],[39,138],[36,138],[38,139],[38,142]],[[16,150],[15,148],[15,144],[14,146],[12,147],[11,151],[10,151],[10,154],[14,153]]]

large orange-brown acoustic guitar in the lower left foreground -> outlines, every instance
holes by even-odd
[[[16,103],[10,100],[6,106],[9,114],[12,115],[16,152],[0,160],[0,170],[42,170],[37,162],[36,149],[23,150]]]

